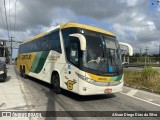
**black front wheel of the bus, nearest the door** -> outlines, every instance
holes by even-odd
[[[53,90],[56,94],[61,93],[61,88],[60,88],[60,80],[59,80],[59,75],[54,74],[52,76],[52,85],[53,85]]]

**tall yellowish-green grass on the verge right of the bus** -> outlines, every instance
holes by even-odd
[[[124,83],[127,86],[160,93],[160,72],[151,67],[142,71],[124,71]]]

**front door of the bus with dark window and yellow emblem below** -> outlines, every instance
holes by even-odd
[[[79,51],[80,42],[78,38],[72,37],[69,49],[66,52],[68,63],[64,69],[64,88],[76,93],[79,92],[79,82],[77,75],[79,73]]]

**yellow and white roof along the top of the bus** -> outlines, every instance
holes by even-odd
[[[52,32],[52,31],[54,31],[56,29],[64,29],[64,28],[70,28],[70,27],[84,28],[84,29],[87,29],[87,30],[96,31],[96,32],[107,34],[107,35],[115,36],[113,33],[109,32],[107,30],[103,30],[103,29],[97,28],[97,27],[93,27],[93,26],[89,26],[89,25],[85,25],[85,24],[68,22],[68,23],[60,24],[60,25],[58,25],[58,26],[56,26],[54,28],[51,28],[51,29],[47,30],[46,32],[38,34],[38,35],[34,36],[33,38],[23,42],[22,44],[30,42],[32,40],[35,40],[37,38],[40,38],[40,37]]]

